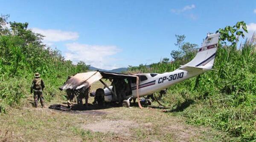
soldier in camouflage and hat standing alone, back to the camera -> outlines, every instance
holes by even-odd
[[[40,74],[37,72],[35,73],[35,78],[32,81],[31,90],[30,90],[30,93],[34,91],[35,107],[38,107],[38,99],[40,99],[41,106],[45,107],[43,90],[44,90],[44,81],[40,78]]]

